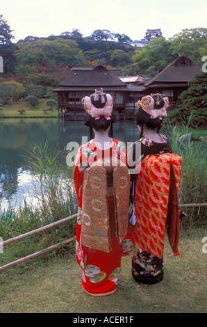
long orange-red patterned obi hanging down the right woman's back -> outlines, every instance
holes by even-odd
[[[163,256],[165,225],[174,255],[179,255],[178,188],[181,157],[148,155],[141,164],[135,189],[135,240],[142,250]]]

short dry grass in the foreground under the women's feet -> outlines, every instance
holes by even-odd
[[[1,273],[1,313],[204,313],[206,312],[206,255],[201,249],[207,230],[181,232],[180,255],[174,257],[165,239],[164,279],[141,285],[131,278],[131,256],[122,258],[115,294],[93,297],[81,287],[81,268],[75,255],[28,263]]]

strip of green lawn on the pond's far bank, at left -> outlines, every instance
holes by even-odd
[[[34,106],[32,109],[29,108],[29,105],[26,102],[13,102],[10,106],[2,106],[0,110],[0,118],[1,117],[58,117],[58,110],[53,108],[52,111],[44,112],[44,109],[49,109],[49,106],[45,104],[47,99],[39,99],[38,104]],[[25,109],[25,113],[18,113],[19,109]]]

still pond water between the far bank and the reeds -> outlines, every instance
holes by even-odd
[[[89,138],[89,128],[83,122],[62,122],[53,119],[1,119],[0,120],[0,205],[13,207],[29,200],[31,172],[28,169],[29,145],[49,142],[49,152],[64,151],[67,143],[82,143]],[[133,121],[113,124],[113,137],[126,145],[138,139],[139,132]],[[65,162],[66,165],[66,162]]]

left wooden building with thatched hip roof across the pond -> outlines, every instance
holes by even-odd
[[[100,88],[112,95],[113,110],[118,119],[133,118],[135,102],[145,94],[143,85],[128,86],[116,76],[113,69],[108,70],[103,65],[94,68],[74,67],[67,79],[53,90],[58,93],[58,116],[61,114],[65,120],[83,120],[85,109],[81,99]]]

